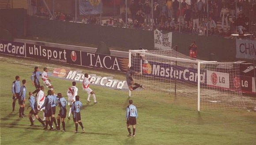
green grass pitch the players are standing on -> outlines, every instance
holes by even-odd
[[[106,72],[105,70],[83,68],[72,65],[58,65],[51,62],[24,59],[0,55],[0,143],[15,144],[91,144],[91,145],[255,145],[256,144],[256,112],[243,109],[215,109],[198,113],[194,100],[174,97],[169,94],[141,95],[132,97],[138,109],[136,137],[127,137],[125,109],[128,105],[128,92],[92,86],[98,104],[87,104],[87,94],[78,83],[83,126],[86,133],[74,134],[75,125],[72,120],[66,121],[66,132],[45,131],[35,120],[30,127],[28,117],[19,118],[19,106],[11,112],[11,83],[15,76],[26,79],[27,92],[33,91],[30,81],[34,66],[53,68],[68,67],[97,76],[113,76],[124,80],[124,73]],[[56,92],[66,94],[71,81],[51,78]],[[46,93],[46,91],[45,91]],[[65,97],[67,99],[67,97]],[[91,98],[92,99],[92,98]],[[26,95],[28,100],[28,95]],[[28,101],[26,101],[28,105]],[[59,110],[57,107],[56,110]],[[25,114],[29,110],[25,109]],[[41,117],[41,113],[39,114]]]

